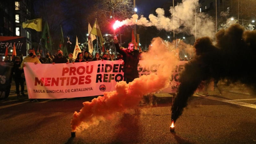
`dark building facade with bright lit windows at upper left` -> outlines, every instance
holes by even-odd
[[[32,48],[32,35],[36,32],[22,28],[22,23],[33,19],[33,0],[0,1],[0,13],[0,36],[26,37],[26,50]]]

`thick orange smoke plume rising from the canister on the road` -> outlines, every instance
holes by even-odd
[[[170,84],[172,69],[178,64],[175,56],[171,55],[173,44],[164,42],[161,38],[154,38],[149,52],[143,54],[147,64],[159,64],[156,74],[143,75],[133,82],[118,82],[116,91],[104,92],[92,102],[84,102],[80,112],[73,114],[71,129],[84,130],[91,125],[98,124],[100,120],[112,118],[116,112],[126,112],[139,105],[144,95],[160,91]]]

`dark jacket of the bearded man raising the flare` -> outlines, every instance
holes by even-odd
[[[120,49],[118,43],[115,44],[116,51],[123,55],[124,60],[124,78],[138,78],[139,50],[134,49],[131,53],[129,49]]]

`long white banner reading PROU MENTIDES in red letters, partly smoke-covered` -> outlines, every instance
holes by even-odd
[[[140,60],[139,75],[157,72],[158,64],[148,65]],[[28,97],[30,99],[62,99],[103,95],[116,90],[116,82],[123,80],[123,61],[98,60],[69,64],[25,63]],[[160,93],[175,93],[179,86],[179,72],[187,61],[180,61],[173,70],[170,86]],[[160,83],[160,82],[159,82]]]

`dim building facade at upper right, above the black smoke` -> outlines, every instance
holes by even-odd
[[[256,10],[254,9],[256,6],[255,0],[199,0],[199,4],[199,11],[212,16],[217,21],[217,27],[227,21],[239,23],[243,26],[254,24],[253,20],[255,20],[256,15]]]

